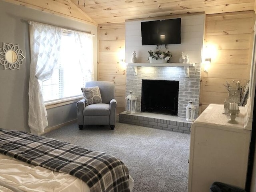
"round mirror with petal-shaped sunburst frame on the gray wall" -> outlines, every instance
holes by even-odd
[[[4,66],[4,69],[20,69],[24,58],[18,44],[3,43],[3,47],[0,48],[0,64]]]

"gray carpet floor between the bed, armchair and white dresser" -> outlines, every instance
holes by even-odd
[[[133,192],[187,192],[190,135],[117,122],[64,126],[44,134],[118,157],[134,179]]]

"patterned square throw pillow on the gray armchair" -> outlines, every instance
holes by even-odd
[[[98,86],[82,87],[81,90],[84,95],[85,106],[88,106],[88,105],[94,104],[94,103],[102,103],[100,88]]]

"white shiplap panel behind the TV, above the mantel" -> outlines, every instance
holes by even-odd
[[[181,52],[188,54],[190,62],[200,63],[204,36],[205,14],[180,15],[172,17],[150,18],[150,20],[181,18],[181,44],[169,44],[167,50],[172,53],[171,62],[178,63]],[[149,63],[148,51],[156,50],[156,45],[141,44],[140,22],[150,21],[128,20],[126,21],[126,62],[130,63],[132,52],[137,53],[138,63]],[[160,51],[166,51],[164,45],[159,46]],[[158,49],[159,50],[159,49]]]

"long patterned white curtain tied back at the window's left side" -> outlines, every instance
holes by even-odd
[[[47,112],[38,80],[48,80],[58,62],[62,29],[55,26],[29,22],[30,26],[30,80],[28,125],[35,134],[48,126]]]

